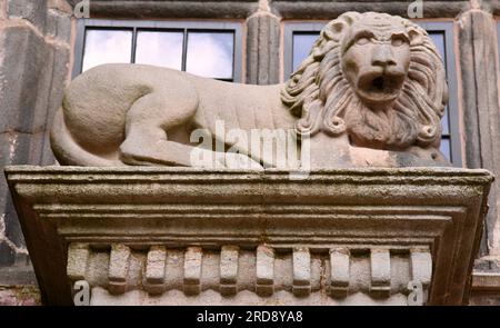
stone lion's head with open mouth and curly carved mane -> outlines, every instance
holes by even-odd
[[[321,31],[282,90],[299,135],[348,133],[353,146],[439,147],[446,72],[428,33],[401,17],[347,12]]]

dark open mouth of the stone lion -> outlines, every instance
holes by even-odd
[[[399,96],[404,76],[392,72],[369,72],[360,77],[358,91],[374,102],[393,101]]]

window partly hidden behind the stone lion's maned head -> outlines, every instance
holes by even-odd
[[[418,22],[434,41],[447,69],[450,100],[442,118],[441,151],[451,162],[461,167],[461,151],[458,118],[457,72],[454,66],[452,22]],[[299,67],[309,54],[316,39],[326,23],[297,22],[284,26],[284,79]]]

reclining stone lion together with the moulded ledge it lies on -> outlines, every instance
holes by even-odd
[[[393,168],[449,165],[447,97],[427,33],[373,12],[327,24],[284,85],[83,73],[51,138],[93,167],[6,170],[44,301],[83,282],[91,305],[467,304],[492,176]]]

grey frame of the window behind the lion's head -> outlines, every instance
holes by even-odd
[[[447,71],[448,81],[448,122],[450,150],[451,150],[451,163],[454,167],[462,167],[462,147],[460,138],[460,119],[459,119],[459,101],[458,101],[458,81],[457,81],[457,63],[456,54],[449,49],[454,49],[454,29],[451,21],[420,21],[416,20],[414,23],[428,32],[440,32],[444,36],[444,66]],[[288,80],[293,72],[293,34],[297,32],[320,32],[322,28],[328,23],[324,22],[284,22],[283,31],[283,77]],[[499,26],[500,31],[500,26]],[[499,36],[500,40],[500,36]],[[499,41],[500,42],[500,41]]]

